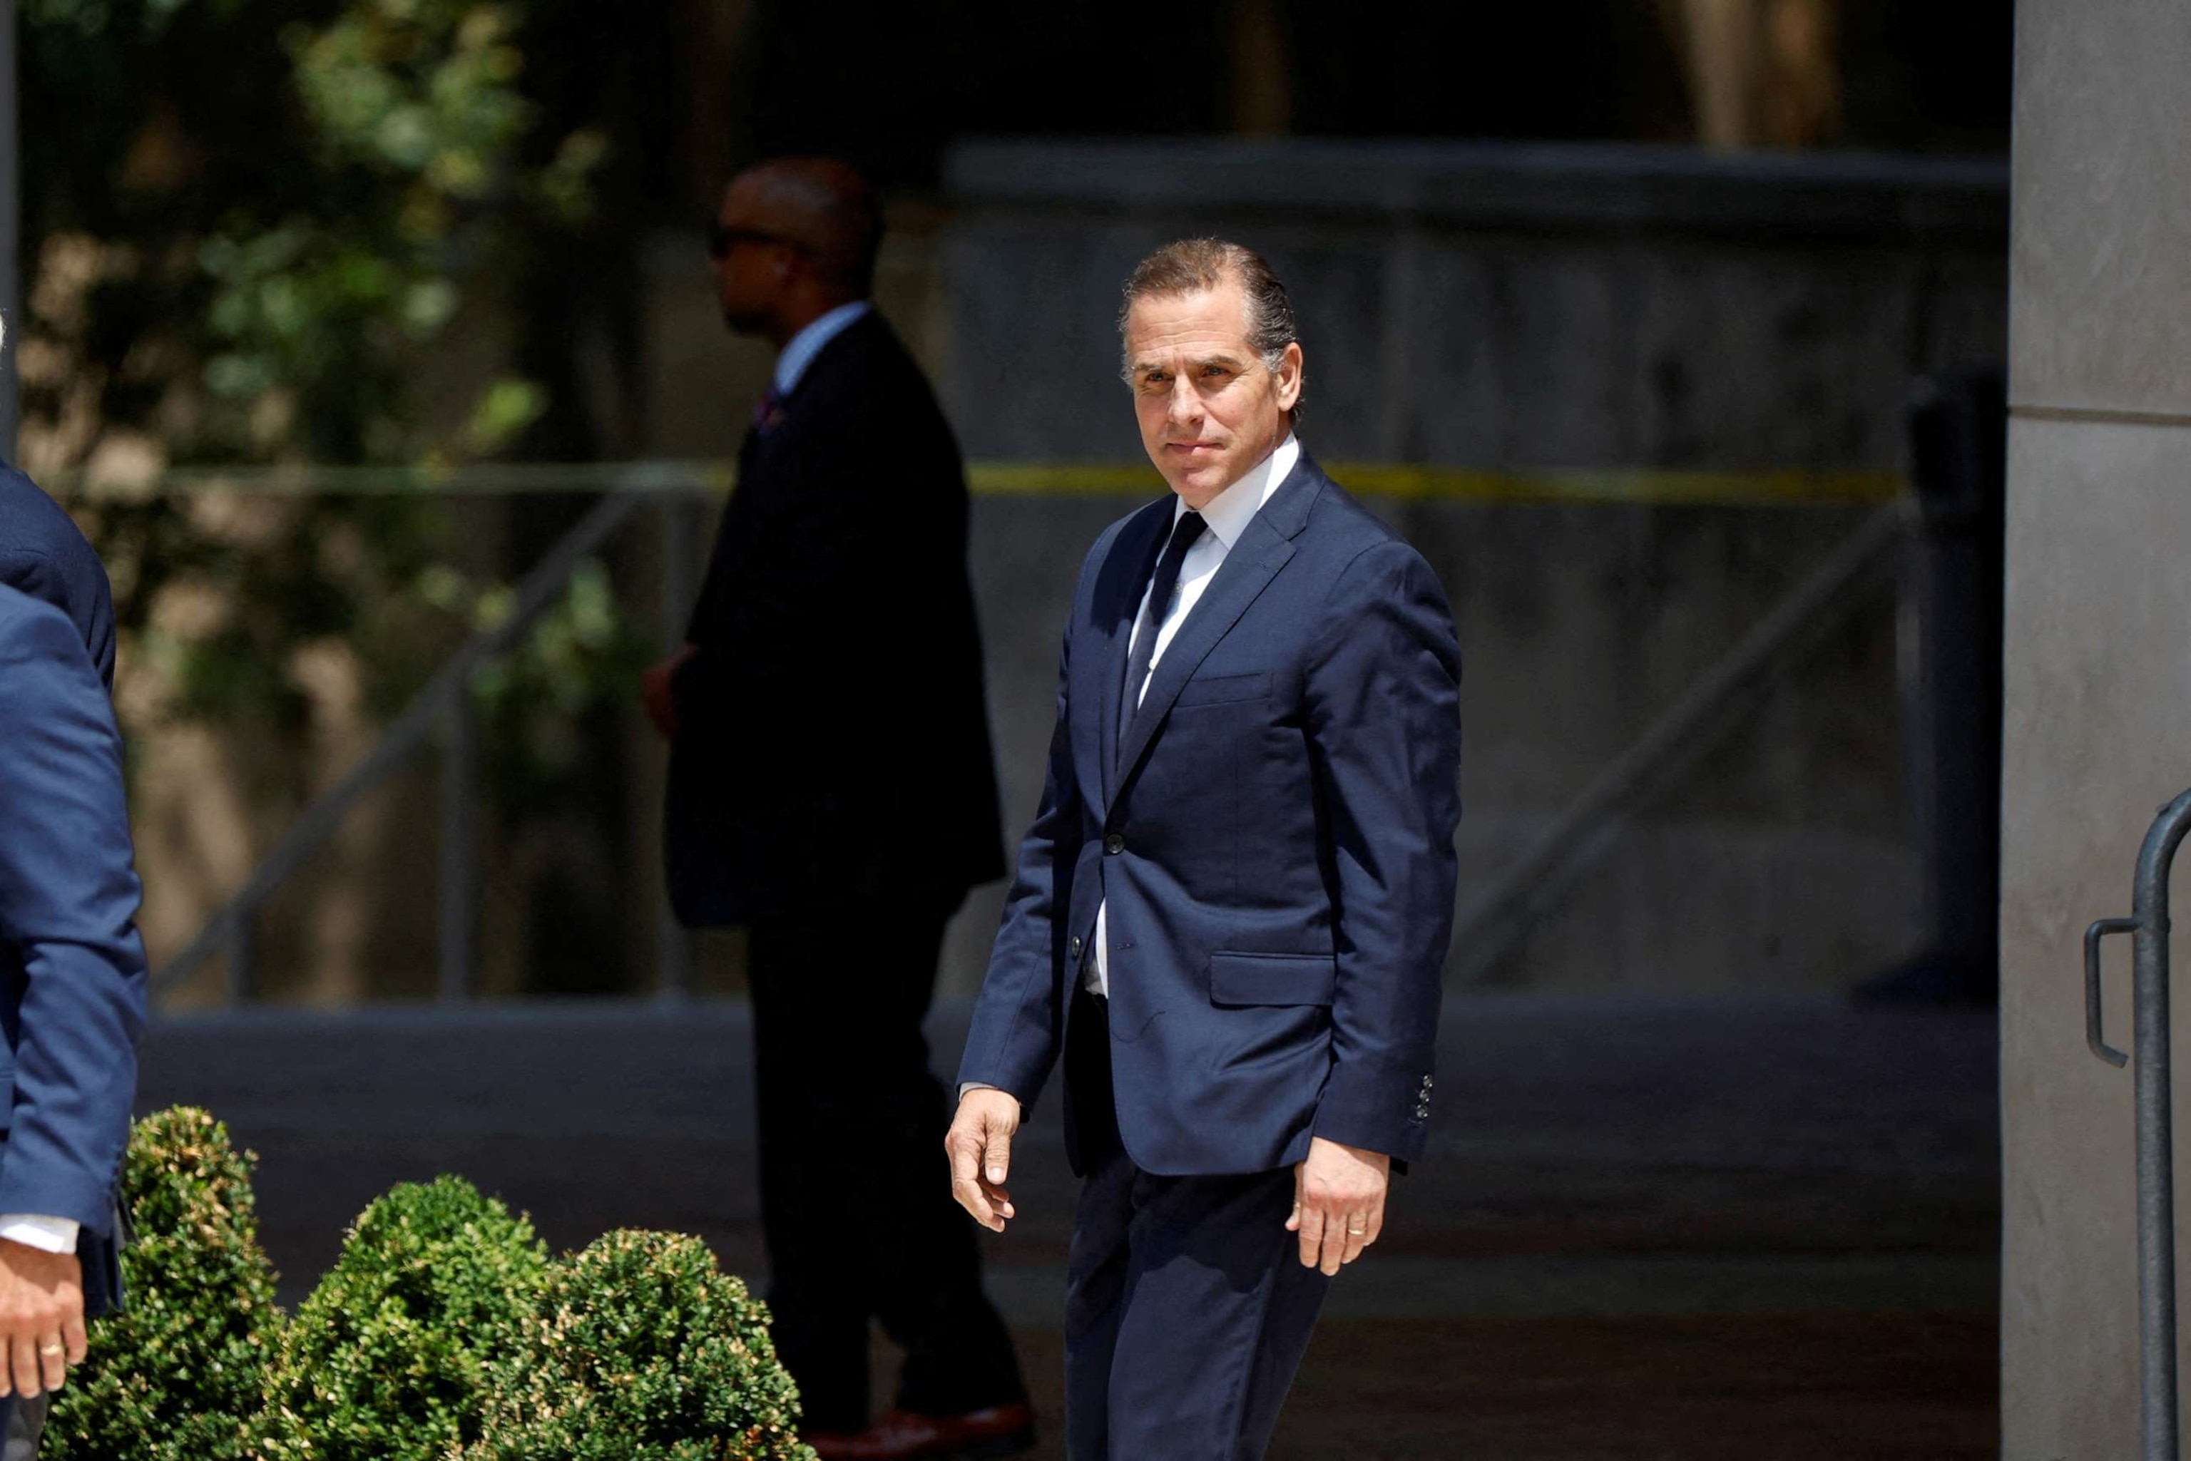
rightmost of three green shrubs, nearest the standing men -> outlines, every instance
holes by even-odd
[[[769,1310],[697,1238],[559,1259],[462,1461],[813,1461]]]

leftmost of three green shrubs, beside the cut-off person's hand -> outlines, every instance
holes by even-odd
[[[234,1461],[280,1334],[250,1152],[195,1106],[136,1124],[123,1159],[129,1308],[92,1321],[55,1395],[48,1461]]]

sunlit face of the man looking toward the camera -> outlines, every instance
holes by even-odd
[[[1301,346],[1266,370],[1247,342],[1247,296],[1229,278],[1135,300],[1126,361],[1142,447],[1196,510],[1286,440],[1286,412],[1301,399]]]

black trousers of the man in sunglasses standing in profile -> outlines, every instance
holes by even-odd
[[[949,1106],[920,1032],[942,935],[933,905],[752,927],[769,1308],[808,1430],[865,1428],[870,1316],[905,1349],[898,1406],[1025,1397],[982,1295],[975,1227],[951,1200]]]

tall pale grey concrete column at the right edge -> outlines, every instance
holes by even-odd
[[[2182,0],[2016,7],[2000,878],[2009,1461],[2138,1454],[2132,1073],[2084,1047],[2079,933],[2130,913],[2138,841],[2191,786],[2187,77]],[[2178,975],[2191,970],[2191,937],[2173,957]],[[2127,940],[2110,940],[2106,1005],[2110,1043],[2127,1047]],[[2187,1005],[2176,999],[2178,1062],[2191,1054]],[[2176,1121],[2191,1132],[2187,1086],[2176,1082]]]

